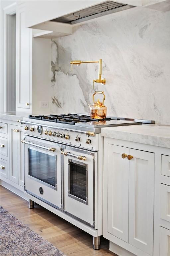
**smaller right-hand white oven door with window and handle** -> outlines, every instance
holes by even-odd
[[[61,154],[64,212],[97,229],[97,152],[63,146]]]

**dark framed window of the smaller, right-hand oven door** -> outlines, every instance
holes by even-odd
[[[68,196],[88,204],[87,164],[68,159]]]

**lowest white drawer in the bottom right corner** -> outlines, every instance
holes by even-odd
[[[170,230],[160,227],[160,256],[170,256]]]

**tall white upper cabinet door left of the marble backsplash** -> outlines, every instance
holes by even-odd
[[[25,27],[25,7],[16,12],[16,110],[30,108],[30,29]]]

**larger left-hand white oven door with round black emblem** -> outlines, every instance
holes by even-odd
[[[61,205],[61,145],[27,136],[25,190],[59,209]]]

